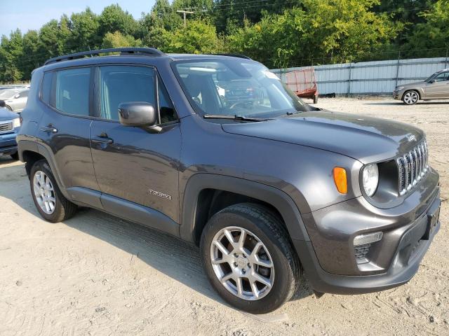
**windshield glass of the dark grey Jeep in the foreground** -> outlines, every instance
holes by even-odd
[[[175,62],[196,113],[269,117],[311,111],[265,66],[244,59]]]

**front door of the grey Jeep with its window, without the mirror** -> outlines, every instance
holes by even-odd
[[[100,190],[156,209],[179,223],[180,125],[156,71],[149,66],[112,65],[99,66],[97,72],[100,120],[91,125],[91,149]],[[118,110],[123,102],[153,104],[163,114],[161,132],[121,125]]]

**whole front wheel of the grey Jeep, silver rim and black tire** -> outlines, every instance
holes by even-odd
[[[258,204],[215,214],[201,235],[210,283],[232,306],[253,314],[279,308],[299,285],[300,265],[281,218]]]

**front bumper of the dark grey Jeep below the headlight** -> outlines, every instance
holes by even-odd
[[[437,185],[438,174],[432,172],[408,204],[377,214],[369,214],[373,209],[366,204],[363,213],[363,201],[356,199],[303,216],[311,241],[293,244],[311,287],[323,293],[370,293],[409,281],[440,227]],[[384,237],[373,244],[369,262],[358,264],[354,237],[376,231]]]

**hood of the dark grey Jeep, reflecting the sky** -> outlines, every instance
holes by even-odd
[[[424,138],[424,132],[411,125],[330,111],[302,112],[257,123],[222,124],[222,129],[332,151],[364,164],[406,153]]]

